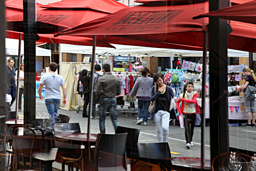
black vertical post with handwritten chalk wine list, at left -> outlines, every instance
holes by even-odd
[[[35,126],[35,0],[23,0],[24,22],[24,122]]]

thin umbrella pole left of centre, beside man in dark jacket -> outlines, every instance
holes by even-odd
[[[93,35],[93,55],[91,62],[91,76],[90,76],[90,100],[89,100],[89,115],[87,124],[87,136],[90,137],[90,117],[93,109],[93,78],[94,78],[94,61],[95,61],[96,35]],[[86,109],[84,109],[86,110]]]

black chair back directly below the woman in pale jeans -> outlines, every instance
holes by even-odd
[[[158,163],[169,163],[173,169],[171,161],[171,151],[168,143],[137,143],[140,160],[157,165]]]

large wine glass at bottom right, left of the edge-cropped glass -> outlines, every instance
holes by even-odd
[[[228,158],[228,167],[231,171],[240,171],[242,168],[241,155],[237,151],[231,151]]]

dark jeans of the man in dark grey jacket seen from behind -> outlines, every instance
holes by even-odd
[[[99,101],[99,129],[100,133],[105,134],[105,120],[106,120],[106,112],[110,107],[110,116],[116,131],[117,126],[119,126],[119,122],[117,121],[116,115],[116,98],[103,98]]]

